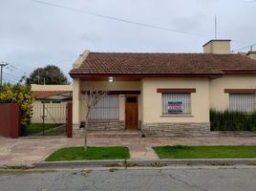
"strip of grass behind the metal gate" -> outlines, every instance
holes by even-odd
[[[45,123],[45,130],[53,129],[55,127],[60,126],[60,123]],[[26,127],[22,136],[30,136],[32,134],[37,134],[43,132],[43,124],[42,123],[32,123],[30,126]]]

